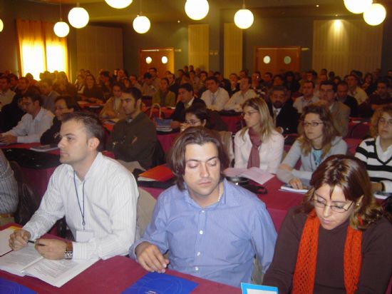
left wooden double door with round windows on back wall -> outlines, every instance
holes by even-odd
[[[166,63],[163,63],[163,57],[166,57]],[[165,71],[174,72],[174,48],[140,49],[139,74],[145,74],[150,67],[155,67],[157,69],[159,78],[165,76]]]

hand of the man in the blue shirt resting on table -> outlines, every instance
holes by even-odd
[[[148,242],[140,243],[135,248],[138,263],[149,272],[165,273],[169,260],[165,259],[157,246]]]

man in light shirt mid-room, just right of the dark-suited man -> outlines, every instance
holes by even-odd
[[[221,111],[227,101],[229,101],[229,93],[224,88],[220,88],[219,81],[215,76],[207,78],[205,86],[208,90],[202,93],[202,101],[205,101],[207,108]]]

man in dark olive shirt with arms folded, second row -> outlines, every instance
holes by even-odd
[[[108,150],[115,159],[133,171],[146,170],[153,164],[157,131],[153,121],[142,111],[142,93],[138,88],[130,88],[123,93],[121,103],[126,118],[118,121],[111,133]]]

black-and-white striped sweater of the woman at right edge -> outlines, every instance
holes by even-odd
[[[355,157],[365,163],[372,182],[383,182],[386,192],[392,193],[392,146],[384,152],[378,136],[368,138],[356,148]]]

